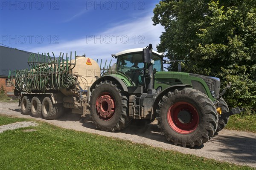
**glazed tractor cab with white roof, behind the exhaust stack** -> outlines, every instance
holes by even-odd
[[[117,53],[114,57],[117,58],[117,72],[127,75],[135,86],[144,85],[143,48],[125,50]],[[162,53],[152,51],[151,63],[153,64],[154,72],[162,72]]]

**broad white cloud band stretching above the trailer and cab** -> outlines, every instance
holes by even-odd
[[[111,59],[111,54],[117,52],[160,43],[160,35],[164,31],[162,26],[153,26],[151,15],[138,18],[129,23],[122,23],[92,35],[84,35],[85,38],[71,40],[65,43],[28,49],[30,52],[74,52],[77,55],[86,54],[93,59]]]

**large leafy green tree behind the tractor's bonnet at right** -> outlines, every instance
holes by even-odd
[[[255,0],[163,0],[152,20],[165,28],[158,51],[183,61],[183,71],[221,78],[221,89],[231,82],[229,107],[256,112]]]

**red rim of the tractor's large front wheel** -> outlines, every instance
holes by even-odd
[[[194,132],[199,123],[198,111],[187,102],[173,104],[168,110],[167,118],[172,129],[181,134]]]

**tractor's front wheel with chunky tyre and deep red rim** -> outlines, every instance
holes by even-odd
[[[196,89],[175,89],[164,95],[158,105],[158,127],[175,145],[200,146],[217,129],[218,115],[213,102]]]

